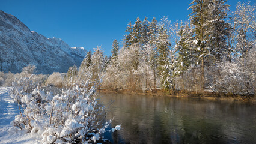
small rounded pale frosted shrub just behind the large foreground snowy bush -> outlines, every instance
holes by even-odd
[[[52,73],[48,79],[46,80],[46,86],[48,85],[53,85],[56,87],[61,88],[63,86],[63,80],[64,80],[64,76],[61,73]]]

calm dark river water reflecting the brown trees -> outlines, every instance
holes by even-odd
[[[256,143],[256,106],[239,101],[99,93],[112,143]]]

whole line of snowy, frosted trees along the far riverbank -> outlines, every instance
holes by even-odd
[[[230,5],[222,0],[194,0],[186,22],[136,19],[130,22],[123,46],[112,44],[112,55],[101,47],[89,51],[67,76],[90,76],[100,88],[144,91],[255,92],[255,5]]]

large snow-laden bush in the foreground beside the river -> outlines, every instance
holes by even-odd
[[[93,143],[102,139],[100,135],[112,119],[105,122],[104,106],[97,102],[89,80],[53,95],[35,88],[37,83],[31,79],[25,77],[13,83],[11,97],[18,103],[20,114],[12,125],[37,133],[44,143]],[[120,125],[114,130],[120,130]]]

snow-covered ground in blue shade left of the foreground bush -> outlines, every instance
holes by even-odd
[[[19,113],[19,107],[8,94],[9,90],[10,88],[0,87],[0,143],[40,143],[40,139],[37,139],[35,135],[9,130],[10,122]]]

